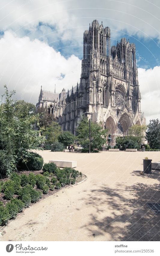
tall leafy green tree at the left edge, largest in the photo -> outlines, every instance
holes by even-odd
[[[38,115],[32,113],[32,108],[25,110],[28,104],[24,101],[12,100],[14,94],[15,91],[9,93],[5,86],[4,102],[0,105],[0,150],[4,150],[6,156],[14,157],[17,163],[21,159],[25,162],[29,150],[36,149],[45,138],[39,136],[33,126],[39,121]]]

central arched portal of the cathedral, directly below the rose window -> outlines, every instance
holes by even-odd
[[[117,129],[120,129],[120,131],[125,135],[125,134],[128,134],[128,128],[131,126],[132,126],[132,121],[130,116],[127,113],[124,113],[123,115],[121,115],[118,121]]]

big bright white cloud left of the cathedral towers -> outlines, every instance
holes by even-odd
[[[76,85],[80,79],[81,61],[74,55],[68,59],[37,39],[18,38],[6,32],[0,40],[0,93],[3,85],[16,90],[16,97],[37,103],[41,85],[57,92]]]

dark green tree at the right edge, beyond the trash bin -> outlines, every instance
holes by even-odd
[[[146,140],[151,148],[160,148],[160,121],[157,118],[149,120],[149,125],[147,125]]]

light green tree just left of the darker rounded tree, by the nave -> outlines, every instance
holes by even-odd
[[[62,133],[62,128],[57,122],[52,122],[46,128],[45,135],[48,144],[53,144],[53,142],[58,141],[59,135]]]

